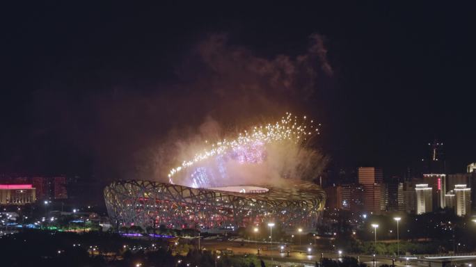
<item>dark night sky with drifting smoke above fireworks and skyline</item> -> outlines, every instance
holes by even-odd
[[[172,137],[285,111],[322,123],[333,168],[401,175],[434,138],[450,172],[476,161],[474,6],[1,9],[4,174],[151,175]]]

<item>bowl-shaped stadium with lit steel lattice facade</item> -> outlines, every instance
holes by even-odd
[[[283,227],[314,227],[326,194],[309,182],[285,187],[191,188],[154,181],[115,181],[104,188],[112,221],[143,228],[219,228],[280,222]]]

